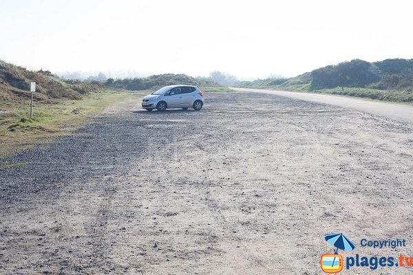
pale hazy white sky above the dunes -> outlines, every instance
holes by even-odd
[[[413,58],[409,2],[0,0],[0,59],[54,73],[290,77]]]

